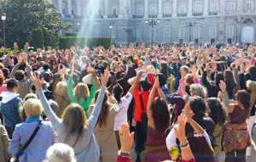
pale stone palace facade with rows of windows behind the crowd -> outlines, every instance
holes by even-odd
[[[254,42],[256,0],[50,0],[79,36],[112,42]],[[159,20],[157,25],[146,21]],[[110,28],[111,25],[111,28]],[[153,33],[152,33],[153,32]]]

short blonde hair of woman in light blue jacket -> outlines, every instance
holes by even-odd
[[[30,98],[23,104],[26,116],[41,115],[43,112],[42,104],[38,99]]]

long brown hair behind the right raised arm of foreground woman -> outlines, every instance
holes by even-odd
[[[99,93],[100,93],[100,90],[96,91],[95,101],[98,99]],[[109,111],[110,106],[111,105],[108,103],[108,93],[105,92],[103,102],[102,102],[101,113],[100,113],[100,115],[98,117],[98,120],[97,120],[97,124],[99,126],[106,126],[107,125],[107,120],[106,119],[107,119],[107,116],[108,116],[108,111]]]

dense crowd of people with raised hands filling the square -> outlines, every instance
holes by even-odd
[[[217,162],[222,151],[244,162],[255,53],[252,43],[14,43],[0,59],[0,162]]]

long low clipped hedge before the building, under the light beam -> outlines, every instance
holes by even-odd
[[[61,49],[69,48],[71,46],[98,47],[102,46],[105,49],[111,46],[109,37],[79,37],[79,36],[61,36],[59,39],[59,47]]]

